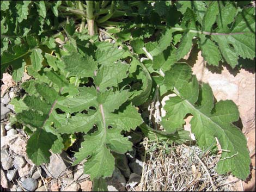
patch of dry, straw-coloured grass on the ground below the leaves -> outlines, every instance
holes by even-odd
[[[147,157],[137,190],[231,191],[231,183],[227,182],[229,175],[218,175],[215,171],[219,156],[203,154],[197,146],[149,143]]]

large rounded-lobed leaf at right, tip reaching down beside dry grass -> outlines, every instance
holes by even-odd
[[[233,101],[219,101],[214,104],[214,96],[208,84],[198,88],[196,77],[191,76],[190,66],[175,64],[169,72],[164,84],[172,89],[177,96],[166,102],[167,110],[162,125],[167,130],[180,128],[184,117],[192,114],[191,131],[196,135],[197,144],[202,148],[211,148],[218,139],[223,149],[217,164],[219,174],[231,172],[234,176],[246,179],[251,163],[247,140],[241,130],[232,122],[239,119],[239,111]],[[170,76],[182,72],[182,76]],[[171,72],[172,71],[172,72]],[[189,80],[182,80],[186,76]]]

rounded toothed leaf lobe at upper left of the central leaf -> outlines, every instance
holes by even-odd
[[[70,55],[63,56],[62,60],[66,63],[65,70],[70,73],[70,76],[93,77],[94,71],[97,70],[97,62],[87,54],[82,56],[77,52],[72,52]]]

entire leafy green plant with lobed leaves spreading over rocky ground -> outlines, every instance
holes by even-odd
[[[85,133],[74,164],[87,159],[84,171],[100,183],[97,179],[114,170],[111,152],[132,147],[124,133],[140,127],[149,138],[184,143],[189,140],[182,129],[184,117],[192,114],[198,145],[210,149],[215,138],[221,144],[217,171],[246,179],[246,138],[232,124],[239,117],[237,107],[232,101],[214,103],[210,86],[199,85],[191,67],[179,61],[192,45],[209,65],[225,61],[234,68],[239,57],[253,59],[255,8],[248,4],[1,1],[1,75],[11,66],[19,82],[27,65],[33,76],[22,84],[27,94],[11,102],[17,121],[33,132],[28,157],[36,165],[47,163],[50,151],[63,150],[64,135]],[[97,33],[114,43],[100,41]],[[165,131],[157,131],[135,106],[143,110],[155,102],[154,95],[162,98],[168,92],[176,97],[156,122]]]

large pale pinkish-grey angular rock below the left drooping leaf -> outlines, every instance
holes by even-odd
[[[46,174],[53,178],[61,177],[65,174],[67,167],[70,165],[66,160],[69,160],[68,154],[62,152],[60,155],[52,154],[50,163],[47,166],[42,166]]]

